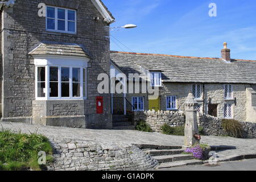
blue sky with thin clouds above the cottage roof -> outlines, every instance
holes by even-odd
[[[102,0],[114,15],[113,51],[220,57],[228,42],[233,59],[256,60],[255,0]],[[210,3],[217,17],[210,17]],[[115,44],[115,43],[116,44]],[[117,46],[118,44],[118,46]]]

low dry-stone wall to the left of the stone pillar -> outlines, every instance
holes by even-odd
[[[182,111],[136,111],[134,120],[147,122],[155,132],[160,132],[164,124],[172,127],[185,125],[185,116]]]

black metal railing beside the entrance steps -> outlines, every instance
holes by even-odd
[[[125,101],[125,105],[124,105]],[[129,122],[134,125],[134,106],[123,97],[112,97],[112,114],[125,115]]]

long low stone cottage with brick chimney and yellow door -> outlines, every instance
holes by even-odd
[[[115,72],[127,77],[149,72],[151,86],[159,88],[159,97],[125,94],[135,111],[182,113],[185,98],[192,92],[201,114],[256,122],[256,61],[230,59],[227,43],[220,59],[118,51],[112,51],[110,57]]]

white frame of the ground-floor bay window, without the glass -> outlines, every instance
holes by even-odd
[[[89,59],[69,57],[69,56],[47,56],[40,55],[35,57],[35,98],[36,100],[86,100],[87,99],[87,75],[88,75],[88,61]],[[46,88],[45,97],[38,97],[38,67],[46,68]],[[49,97],[49,68],[58,68],[58,97]],[[61,68],[69,68],[69,97],[61,97]],[[72,81],[72,69],[80,68],[80,97],[73,97],[73,81]],[[85,80],[83,71],[85,71]],[[84,84],[85,83],[85,96],[84,96]]]

